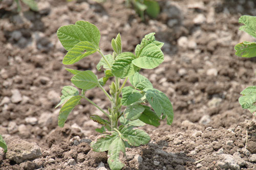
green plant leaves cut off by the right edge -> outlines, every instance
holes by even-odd
[[[239,30],[242,30],[256,38],[256,16],[241,16],[239,18],[239,23],[244,24],[244,26],[241,26]],[[236,55],[239,57],[256,57],[256,42],[241,42],[234,46],[234,50],[236,50]],[[241,94],[243,96],[239,98],[239,103],[242,108],[248,109],[256,116],[256,86],[247,87],[241,92]]]

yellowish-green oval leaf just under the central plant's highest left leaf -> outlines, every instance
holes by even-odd
[[[89,41],[81,41],[77,43],[63,58],[62,63],[70,65],[78,62],[79,60],[97,52],[97,47]]]

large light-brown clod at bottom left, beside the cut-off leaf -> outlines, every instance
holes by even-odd
[[[7,143],[7,145],[8,152],[6,158],[16,163],[22,163],[25,160],[34,160],[42,155],[40,147],[35,142],[30,143],[25,140],[14,139]]]

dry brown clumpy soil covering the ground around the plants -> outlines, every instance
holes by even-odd
[[[254,1],[159,1],[160,15],[145,21],[124,1],[37,1],[39,12],[23,5],[20,13],[13,2],[0,3],[0,134],[9,148],[14,141],[36,142],[41,156],[16,163],[0,149],[0,169],[109,169],[106,152],[90,148],[100,126],[89,116],[102,116],[94,106],[81,102],[65,127],[57,127],[61,88],[72,85],[65,67],[96,73],[100,59],[94,54],[62,65],[67,52],[56,31],[77,20],[99,28],[105,54],[118,33],[127,52],[151,32],[165,43],[164,62],[141,74],[172,101],[174,123],[143,127],[151,141],[126,149],[123,169],[256,169],[255,117],[238,103],[240,92],[256,85],[256,60],[233,50],[255,41],[238,31],[241,15],[256,15]],[[101,108],[110,104],[97,88],[86,96]]]

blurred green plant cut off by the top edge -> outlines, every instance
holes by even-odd
[[[142,20],[144,20],[144,11],[152,18],[156,18],[160,12],[160,6],[155,0],[126,0],[126,6],[135,8]]]

